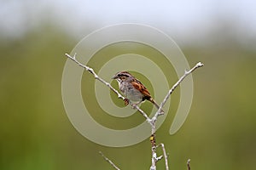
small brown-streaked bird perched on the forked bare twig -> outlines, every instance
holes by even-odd
[[[129,105],[131,101],[139,105],[148,100],[159,110],[160,106],[154,101],[148,89],[128,71],[119,71],[112,79],[119,83],[119,90],[125,95],[125,105]],[[161,112],[164,111],[161,110]]]

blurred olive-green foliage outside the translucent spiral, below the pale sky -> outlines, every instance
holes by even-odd
[[[111,169],[99,150],[122,169],[148,169],[148,140],[108,148],[85,139],[69,122],[61,100],[61,74],[64,54],[76,43],[48,25],[13,41],[0,40],[0,169]],[[186,169],[188,158],[196,170],[253,169],[256,52],[233,41],[207,44],[181,47],[190,65],[202,61],[205,66],[193,73],[194,101],[183,127],[169,135],[171,111],[157,142],[166,144],[171,169]],[[122,128],[113,120],[109,127],[112,123]],[[158,166],[164,169],[164,161]]]

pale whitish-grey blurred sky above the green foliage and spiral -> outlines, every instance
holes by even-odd
[[[127,22],[154,26],[181,43],[205,39],[218,30],[241,41],[256,39],[255,0],[0,1],[2,37],[20,37],[47,20],[78,39]]]

